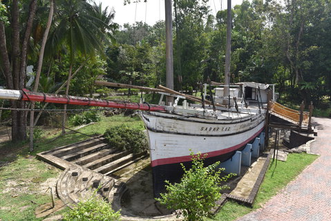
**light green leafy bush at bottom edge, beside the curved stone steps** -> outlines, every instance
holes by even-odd
[[[64,221],[117,221],[120,220],[120,211],[113,211],[111,204],[93,194],[86,201],[81,201],[74,209],[64,213]]]

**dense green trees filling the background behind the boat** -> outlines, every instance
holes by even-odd
[[[39,66],[50,2],[1,1],[3,86],[25,88],[26,66]],[[224,79],[227,11],[211,15],[207,2],[172,1],[175,90],[198,90],[207,79]],[[165,83],[164,21],[119,27],[115,12],[101,3],[54,3],[39,91],[92,95],[100,88],[93,79],[100,76],[140,86]],[[331,99],[330,0],[243,1],[232,15],[231,82],[276,84],[283,102],[325,107]],[[63,84],[66,90],[57,90]],[[26,108],[24,102],[10,105]],[[25,139],[26,113],[12,111],[12,128],[15,139]]]

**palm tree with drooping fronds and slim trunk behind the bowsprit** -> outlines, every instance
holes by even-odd
[[[85,0],[62,0],[57,10],[57,24],[51,33],[48,51],[57,51],[66,45],[69,53],[69,71],[66,85],[66,95],[69,92],[73,64],[76,55],[95,57],[97,52],[103,52],[106,36],[111,35],[116,26],[111,22],[113,12],[108,14],[102,10],[101,4],[92,6]],[[112,35],[111,35],[112,36]],[[57,49],[57,50],[55,50]],[[66,105],[64,105],[64,117],[62,133],[65,133]]]

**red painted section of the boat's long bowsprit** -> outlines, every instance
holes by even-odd
[[[45,93],[32,93],[29,90],[22,90],[23,101],[29,102],[47,102],[55,104],[73,104],[83,106],[101,106],[107,108],[122,108],[141,111],[165,111],[164,106],[154,104],[139,104],[132,102],[114,102],[105,99],[92,99],[88,97],[75,97],[66,95],[52,95]]]

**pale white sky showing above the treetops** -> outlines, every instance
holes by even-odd
[[[143,21],[150,26],[156,21],[164,20],[164,0],[149,0],[147,3],[131,3],[124,6],[124,0],[100,0],[104,7],[114,8],[114,22],[120,24],[135,23],[135,21]],[[243,2],[243,0],[232,0],[232,7]],[[227,8],[227,0],[209,0],[211,13],[216,15],[216,11]],[[137,10],[136,10],[137,8]]]

